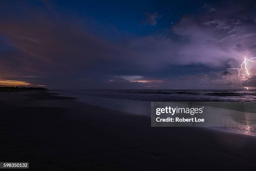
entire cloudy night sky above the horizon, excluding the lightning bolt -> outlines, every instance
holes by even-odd
[[[253,1],[3,0],[0,15],[1,85],[256,87],[256,62],[238,77],[256,56]]]

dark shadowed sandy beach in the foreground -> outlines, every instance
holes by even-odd
[[[146,116],[59,97],[1,92],[0,161],[35,171],[241,170],[256,167],[256,137],[151,127]]]

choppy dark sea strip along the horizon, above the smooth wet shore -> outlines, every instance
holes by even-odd
[[[143,101],[256,101],[256,90],[79,90],[74,94]]]

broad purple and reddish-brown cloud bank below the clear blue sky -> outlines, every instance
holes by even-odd
[[[0,49],[0,77],[57,88],[241,87],[236,67],[244,55],[256,55],[255,4],[212,8],[184,15],[171,29],[121,41],[92,32],[90,22],[63,20],[59,13],[24,10],[16,12],[19,17],[9,11],[0,21],[0,43],[6,45]],[[159,17],[146,13],[146,22],[154,26]],[[175,69],[160,72],[187,65],[214,71],[184,71],[183,77]]]

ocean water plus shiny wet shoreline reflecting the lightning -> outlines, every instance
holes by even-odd
[[[209,107],[223,108],[225,116],[216,117],[225,121],[225,130],[256,136],[255,127],[234,125],[229,116],[232,111],[240,111],[241,115],[256,120],[256,90],[52,90],[61,96],[75,97],[77,101],[88,105],[118,110],[135,115],[151,117],[151,102],[208,102]],[[213,103],[217,102],[217,103]],[[217,104],[217,105],[216,105]],[[252,115],[251,115],[252,114]],[[255,116],[254,116],[255,114]],[[239,114],[240,115],[240,114]],[[250,117],[248,117],[250,116]],[[224,119],[225,117],[225,119]],[[235,123],[236,125],[237,123]]]

